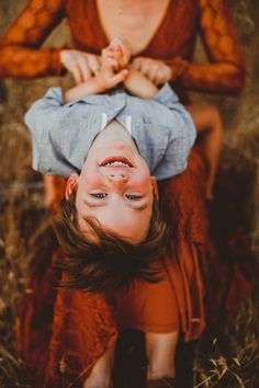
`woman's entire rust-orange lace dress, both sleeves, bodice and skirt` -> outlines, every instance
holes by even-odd
[[[68,19],[78,49],[100,54],[108,45],[95,1],[31,0],[0,39],[0,77],[63,75],[59,49],[38,48],[64,18]],[[198,33],[209,64],[192,62]],[[244,85],[243,52],[223,0],[171,0],[159,27],[138,55],[171,66],[172,85],[183,101],[189,89],[225,93]],[[171,228],[170,248],[160,258],[166,278],[161,284],[136,284],[128,292],[111,296],[113,304],[101,294],[56,293],[50,262],[58,260],[60,253],[54,251],[55,243],[49,243],[29,279],[18,341],[20,354],[34,372],[38,386],[44,385],[44,378],[46,387],[61,386],[61,380],[68,384],[75,378],[72,386],[80,384],[94,360],[114,344],[117,323],[144,331],[181,330],[187,341],[201,334],[204,284],[212,281],[210,267],[216,267],[215,252],[207,239],[205,178],[204,160],[193,150],[188,170],[160,184],[161,212]],[[64,180],[57,178],[57,193],[63,185]],[[210,288],[206,295],[210,300]]]

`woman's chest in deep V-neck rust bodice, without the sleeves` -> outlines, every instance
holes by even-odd
[[[114,8],[109,7],[111,3]],[[199,23],[199,0],[150,1],[148,11],[147,1],[136,4],[120,8],[112,0],[66,0],[75,46],[99,54],[121,33],[137,55],[190,59]]]

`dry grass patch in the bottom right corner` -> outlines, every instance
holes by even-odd
[[[257,388],[259,381],[259,305],[241,306],[235,324],[216,338],[203,335],[194,358],[194,388]]]

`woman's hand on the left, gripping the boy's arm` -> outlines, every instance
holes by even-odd
[[[88,81],[100,68],[100,57],[98,55],[77,49],[61,50],[60,61],[71,72],[77,84]]]

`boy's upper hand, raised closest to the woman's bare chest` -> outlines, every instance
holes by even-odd
[[[128,65],[133,53],[125,38],[122,36],[114,37],[108,46],[108,49],[111,50],[113,58],[117,60],[121,69]]]

